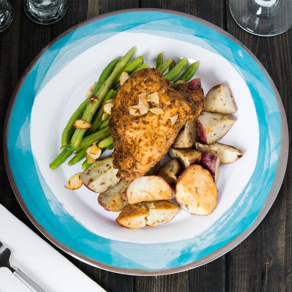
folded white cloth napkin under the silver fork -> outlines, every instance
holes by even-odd
[[[0,204],[0,241],[12,263],[46,292],[105,292]],[[30,292],[8,269],[0,268],[0,292]]]

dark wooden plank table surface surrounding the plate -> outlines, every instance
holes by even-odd
[[[25,68],[43,47],[81,21],[129,8],[180,11],[205,19],[236,37],[256,55],[271,75],[282,98],[288,126],[292,125],[292,29],[275,37],[248,34],[233,20],[228,0],[70,0],[65,17],[49,26],[38,25],[27,18],[22,1],[11,2],[15,18],[12,25],[0,33],[1,135],[12,91]],[[291,132],[289,136],[291,140]],[[178,274],[130,276],[103,271],[65,256],[108,292],[292,291],[291,165],[289,156],[286,175],[277,199],[256,230],[232,251],[204,266]],[[0,203],[40,235],[13,194],[2,151]]]

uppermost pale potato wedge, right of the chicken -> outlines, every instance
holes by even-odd
[[[237,111],[230,88],[226,84],[212,87],[206,94],[205,111],[231,114]]]

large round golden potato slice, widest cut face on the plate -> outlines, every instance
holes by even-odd
[[[199,164],[187,167],[176,183],[175,198],[194,215],[209,215],[217,205],[218,188],[211,173]]]

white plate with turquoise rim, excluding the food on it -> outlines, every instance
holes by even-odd
[[[220,142],[243,150],[222,165],[218,205],[209,216],[180,210],[169,223],[131,230],[105,211],[84,186],[64,187],[80,164],[49,164],[61,132],[85,92],[115,57],[156,56],[198,61],[205,93],[225,83],[233,92],[235,124]],[[124,274],[169,274],[228,252],[246,238],[273,204],[288,157],[288,128],[274,83],[243,45],[218,27],[167,10],[127,10],[83,22],[50,43],[21,78],[6,119],[6,167],[18,201],[37,228],[67,253]]]

